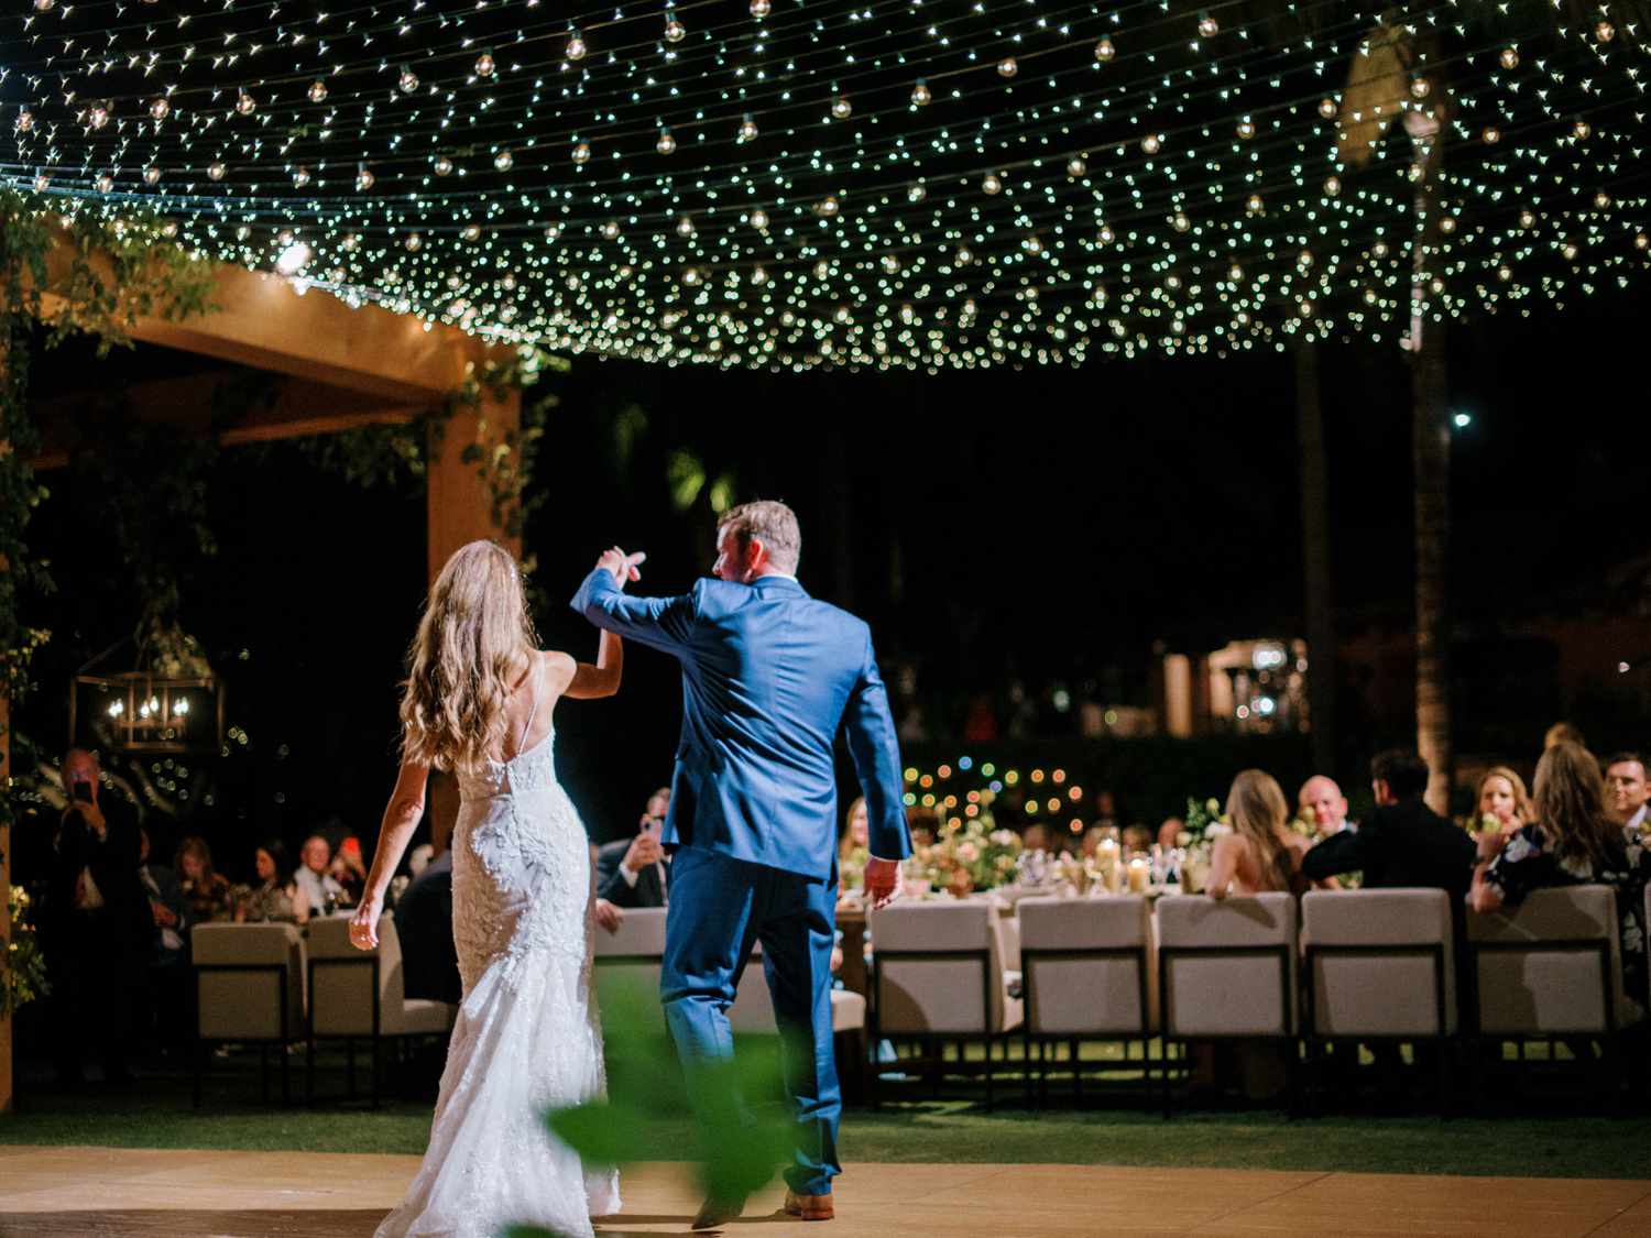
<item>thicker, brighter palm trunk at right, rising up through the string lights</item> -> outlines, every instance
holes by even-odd
[[[1445,327],[1425,322],[1430,254],[1438,253],[1436,182],[1445,125],[1422,147],[1410,325],[1412,452],[1417,520],[1417,751],[1428,763],[1428,807],[1450,809],[1450,408]]]

